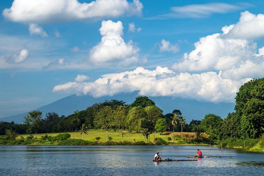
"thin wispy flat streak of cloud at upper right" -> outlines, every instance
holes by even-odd
[[[242,10],[249,6],[249,3],[239,3],[237,5],[227,3],[207,3],[191,4],[186,6],[171,7],[171,13],[162,14],[147,19],[166,19],[166,18],[207,18],[212,14],[226,14],[236,10]]]

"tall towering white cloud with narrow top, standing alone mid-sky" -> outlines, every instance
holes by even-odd
[[[95,65],[118,61],[119,65],[131,65],[139,62],[138,51],[132,40],[126,43],[122,38],[122,22],[102,21],[99,29],[101,42],[90,50],[90,59]]]

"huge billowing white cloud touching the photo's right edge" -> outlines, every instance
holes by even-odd
[[[239,22],[224,26],[223,33],[201,37],[195,49],[172,68],[179,72],[219,70],[224,78],[237,80],[264,76],[264,50],[258,49],[257,54],[257,43],[252,40],[264,34],[260,30],[264,30],[262,16],[241,13]]]

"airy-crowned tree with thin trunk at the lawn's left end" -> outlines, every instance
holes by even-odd
[[[42,123],[42,112],[31,111],[24,117],[24,123],[27,125],[29,131],[34,131],[37,138],[37,130]]]

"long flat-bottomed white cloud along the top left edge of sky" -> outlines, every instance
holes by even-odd
[[[143,5],[138,0],[14,0],[2,15],[13,22],[49,23],[82,19],[100,19],[122,15],[141,15]]]

